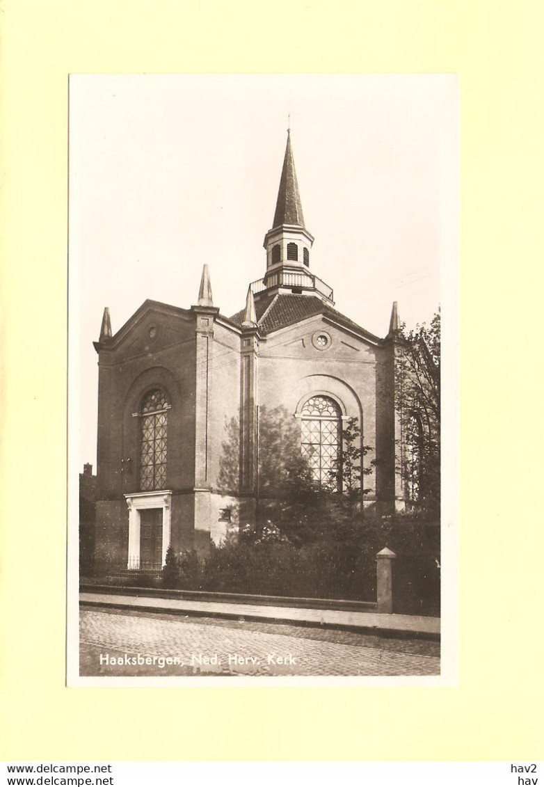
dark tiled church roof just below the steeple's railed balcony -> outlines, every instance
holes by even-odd
[[[268,309],[268,307],[270,308]],[[273,331],[279,331],[280,328],[294,325],[302,320],[306,320],[308,317],[323,314],[341,325],[353,331],[357,331],[358,334],[367,336],[373,341],[379,341],[378,337],[365,331],[365,328],[361,328],[361,326],[354,323],[353,320],[337,312],[336,309],[332,309],[331,306],[328,306],[321,301],[320,298],[314,295],[268,295],[267,297],[256,299],[255,311],[257,312],[257,324],[263,335],[270,334]],[[244,312],[245,309],[236,312],[235,315],[231,316],[231,322],[236,325],[242,325]]]

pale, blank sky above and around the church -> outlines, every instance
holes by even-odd
[[[188,309],[209,265],[225,316],[265,273],[291,142],[310,270],[378,336],[456,286],[452,75],[76,75],[69,91],[71,462],[96,466],[98,340],[146,298]],[[95,471],[95,470],[94,470]]]

